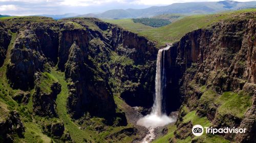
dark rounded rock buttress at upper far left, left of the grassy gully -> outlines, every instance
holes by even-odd
[[[28,90],[34,86],[34,74],[43,71],[45,63],[39,41],[30,28],[20,30],[11,51],[7,77],[13,88]]]

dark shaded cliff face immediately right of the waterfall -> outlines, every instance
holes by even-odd
[[[184,74],[188,67],[193,67],[192,63],[203,62],[203,50],[209,44],[212,35],[210,30],[196,30],[186,34],[180,42],[174,43],[166,53],[166,110],[167,113],[175,111],[180,107],[181,87],[193,79],[196,71]],[[192,74],[192,75],[191,75]],[[188,88],[188,87],[186,87]],[[185,89],[186,89],[185,88]],[[199,93],[200,94],[200,93]],[[169,96],[167,96],[169,95]]]

